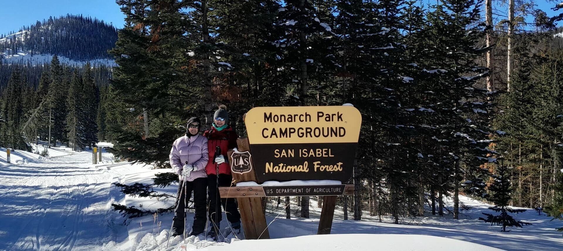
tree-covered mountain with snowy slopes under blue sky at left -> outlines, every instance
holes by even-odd
[[[58,55],[61,63],[82,65],[115,65],[108,55],[117,30],[91,17],[66,15],[37,21],[19,32],[0,36],[2,63],[48,63]]]

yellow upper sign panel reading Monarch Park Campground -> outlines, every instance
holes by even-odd
[[[245,121],[251,144],[357,143],[361,114],[352,106],[256,107]]]

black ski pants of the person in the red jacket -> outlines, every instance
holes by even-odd
[[[219,174],[220,187],[229,187],[231,186],[231,182],[233,182],[233,176],[229,174]],[[222,220],[222,212],[221,206],[217,206],[217,200],[221,197],[217,189],[217,175],[207,175],[207,186],[209,195],[209,221],[211,226],[213,226],[214,223],[217,223],[218,226],[218,223]],[[231,223],[240,222],[240,213],[234,198],[221,199],[221,205],[227,214],[227,221]]]

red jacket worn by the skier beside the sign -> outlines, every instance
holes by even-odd
[[[230,126],[227,126],[227,128],[221,131],[217,131],[215,127],[211,126],[211,129],[205,131],[205,133],[203,133],[203,136],[207,137],[208,139],[207,147],[209,149],[209,161],[207,162],[207,166],[205,166],[205,173],[207,173],[207,175],[216,175],[216,164],[213,163],[213,160],[215,160],[216,147],[221,147],[221,154],[225,156],[226,161],[229,161],[227,151],[236,147],[236,139],[239,138],[239,135],[237,135],[233,128]],[[225,162],[219,164],[219,173],[230,175],[231,166],[229,165],[229,163]]]

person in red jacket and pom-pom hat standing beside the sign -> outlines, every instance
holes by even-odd
[[[217,232],[221,229],[220,222],[222,219],[221,206],[217,205],[217,201],[220,199],[217,189],[217,180],[221,187],[229,187],[231,182],[233,182],[227,151],[236,147],[236,139],[238,139],[239,136],[233,128],[228,125],[229,113],[227,113],[227,107],[225,105],[219,105],[219,109],[217,109],[215,115],[213,115],[213,121],[211,128],[205,131],[203,136],[206,136],[208,139],[207,146],[209,149],[209,161],[207,162],[207,166],[205,166],[205,172],[207,173],[208,181],[208,213],[211,230],[207,236],[212,239],[217,239]],[[220,148],[220,154],[216,154],[217,147]],[[217,170],[219,171],[218,178]],[[238,234],[240,232],[240,213],[235,199],[221,199],[221,205],[225,209],[227,221],[230,222],[231,228],[233,228],[235,234]]]

